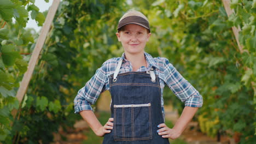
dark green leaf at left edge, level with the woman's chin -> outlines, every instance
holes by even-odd
[[[20,54],[14,51],[14,45],[2,46],[2,59],[5,65],[11,66],[14,64],[16,58],[22,58]]]

